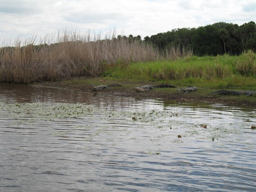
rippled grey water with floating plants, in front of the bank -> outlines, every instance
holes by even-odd
[[[256,189],[255,107],[0,84],[0,114],[0,191]]]

